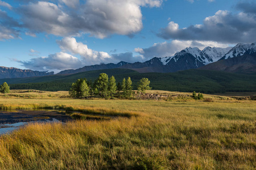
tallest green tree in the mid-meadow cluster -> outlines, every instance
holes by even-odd
[[[98,90],[98,94],[102,97],[108,96],[108,82],[108,74],[101,73],[100,76],[98,76],[96,88]]]

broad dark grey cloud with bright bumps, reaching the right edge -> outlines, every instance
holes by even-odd
[[[247,7],[248,6],[248,7]],[[224,43],[254,42],[256,37],[256,3],[238,3],[242,10],[238,14],[230,11],[217,11],[215,15],[204,19],[202,25],[190,25],[179,28],[171,21],[162,28],[158,36],[164,39],[218,41]]]

